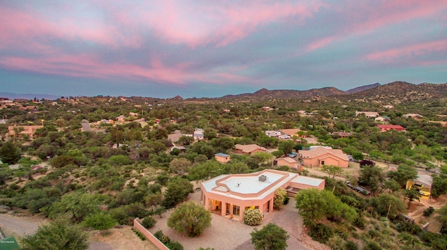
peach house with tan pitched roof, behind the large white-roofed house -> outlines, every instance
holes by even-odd
[[[298,150],[298,160],[305,166],[339,166],[347,168],[349,165],[348,155],[341,149],[311,148],[310,150]]]

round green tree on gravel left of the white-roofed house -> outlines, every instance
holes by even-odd
[[[211,213],[193,201],[179,205],[168,218],[168,226],[189,237],[202,235],[211,226]]]

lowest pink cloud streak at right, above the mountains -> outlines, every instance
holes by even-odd
[[[437,40],[370,53],[365,56],[365,59],[369,61],[384,61],[391,63],[398,58],[413,58],[433,52],[445,51],[447,51],[447,40]]]

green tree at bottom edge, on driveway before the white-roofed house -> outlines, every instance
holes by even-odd
[[[276,224],[269,223],[258,231],[254,228],[251,244],[256,250],[284,250],[287,248],[288,233]]]

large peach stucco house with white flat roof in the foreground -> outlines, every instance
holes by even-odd
[[[265,169],[256,173],[219,175],[202,182],[200,200],[207,210],[239,221],[244,211],[258,208],[272,212],[274,192],[284,189],[324,189],[325,180],[298,173]]]

